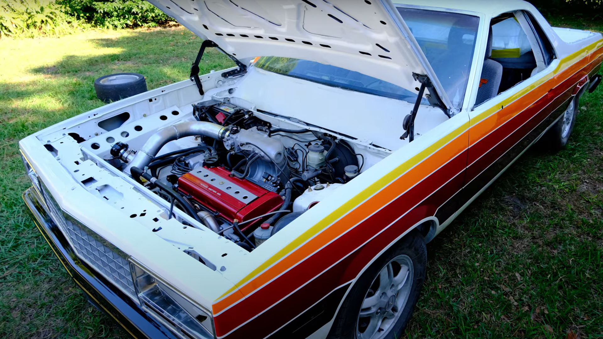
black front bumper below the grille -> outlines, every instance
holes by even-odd
[[[134,338],[179,338],[165,325],[154,320],[94,268],[75,256],[63,233],[42,207],[40,203],[42,198],[33,187],[23,193],[23,200],[36,227],[92,305],[112,317]]]

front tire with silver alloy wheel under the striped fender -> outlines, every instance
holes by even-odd
[[[341,305],[330,339],[402,337],[425,282],[425,240],[411,231],[359,277]]]

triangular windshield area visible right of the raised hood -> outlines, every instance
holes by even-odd
[[[452,106],[461,107],[471,71],[479,17],[401,7],[398,11],[446,90]]]

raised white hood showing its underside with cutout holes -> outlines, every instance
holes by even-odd
[[[258,56],[312,60],[411,90],[428,75],[452,107],[390,0],[148,0],[241,62]]]

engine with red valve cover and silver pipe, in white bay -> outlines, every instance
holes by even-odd
[[[112,165],[125,163],[133,179],[247,250],[362,167],[359,154],[335,136],[274,128],[230,103],[204,101],[193,115],[196,121],[162,128],[139,150],[116,143]],[[157,156],[168,142],[188,136],[196,147]]]

